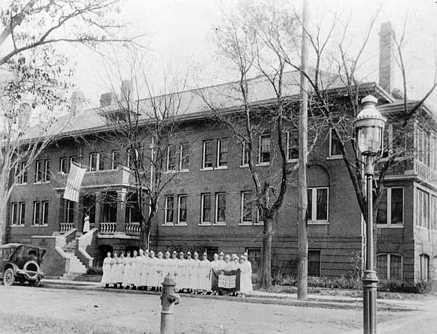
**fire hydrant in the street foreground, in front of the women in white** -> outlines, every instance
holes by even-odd
[[[162,282],[161,295],[161,334],[174,334],[174,305],[181,302],[181,297],[174,292],[173,277],[167,274]]]

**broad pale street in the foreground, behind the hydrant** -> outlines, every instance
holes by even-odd
[[[159,333],[158,295],[0,286],[0,298],[0,333],[4,334]],[[378,322],[399,324],[406,315],[418,313],[379,312]],[[361,310],[208,301],[182,295],[181,305],[176,306],[175,333],[360,333],[361,326]]]

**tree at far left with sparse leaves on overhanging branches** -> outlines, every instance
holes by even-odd
[[[3,1],[0,5],[0,242],[6,231],[6,205],[13,184],[24,182],[27,168],[52,138],[66,116],[66,92],[73,71],[59,43],[132,45],[118,37],[118,1]],[[114,12],[114,15],[109,13]],[[113,18],[111,18],[113,17]]]

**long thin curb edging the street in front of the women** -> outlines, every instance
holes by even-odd
[[[82,291],[95,291],[104,293],[115,293],[115,294],[143,294],[150,296],[159,296],[156,292],[149,291],[136,291],[136,290],[124,290],[124,289],[113,289],[98,287],[95,285],[68,285],[68,284],[54,284],[54,283],[41,283],[40,287],[47,289],[70,289],[70,290],[82,290]],[[297,299],[274,299],[266,297],[231,297],[231,296],[203,296],[201,294],[182,294],[183,298],[192,299],[213,299],[217,301],[235,301],[237,303],[256,303],[265,305],[285,305],[285,306],[298,306],[301,308],[335,308],[335,309],[346,309],[346,310],[362,310],[361,303],[346,303],[346,302],[335,302],[335,301],[300,301]],[[391,312],[406,312],[415,311],[415,308],[399,307],[396,305],[378,305],[378,311],[391,311]]]

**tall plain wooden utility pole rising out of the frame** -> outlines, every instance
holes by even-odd
[[[300,54],[300,115],[299,115],[299,174],[298,174],[298,299],[307,299],[308,293],[308,230],[307,230],[307,155],[308,155],[308,3],[303,0],[302,50]]]

